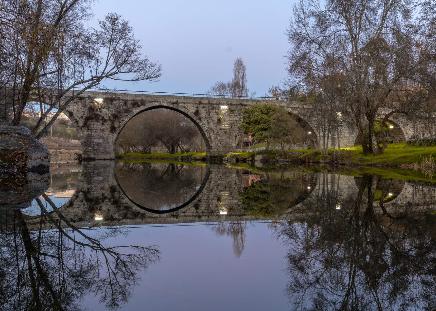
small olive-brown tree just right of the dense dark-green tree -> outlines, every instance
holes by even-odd
[[[277,107],[271,116],[269,138],[280,145],[285,152],[285,144],[302,142],[303,130],[284,107]]]

